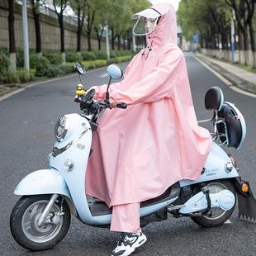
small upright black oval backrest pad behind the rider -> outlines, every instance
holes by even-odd
[[[205,107],[207,110],[220,111],[224,102],[224,96],[221,89],[217,86],[210,88],[206,92]]]

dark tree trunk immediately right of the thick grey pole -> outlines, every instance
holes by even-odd
[[[31,0],[31,7],[34,18],[36,31],[36,53],[41,52],[41,35],[40,35],[40,0]]]

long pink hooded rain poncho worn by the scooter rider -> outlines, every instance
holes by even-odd
[[[105,111],[92,136],[86,192],[108,206],[145,201],[179,180],[197,179],[211,149],[210,133],[197,125],[175,11],[153,7],[162,17],[147,47],[110,87],[110,96],[128,107]],[[95,88],[95,98],[104,99],[107,85]]]

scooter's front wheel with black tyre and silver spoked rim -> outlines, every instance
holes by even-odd
[[[50,249],[68,232],[70,211],[66,201],[55,201],[45,222],[38,225],[49,200],[50,195],[25,196],[14,206],[10,228],[13,238],[23,248],[31,251]]]

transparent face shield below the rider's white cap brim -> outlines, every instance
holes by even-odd
[[[135,36],[146,36],[152,33],[157,26],[158,18],[146,18],[139,16],[136,18],[133,34]]]

